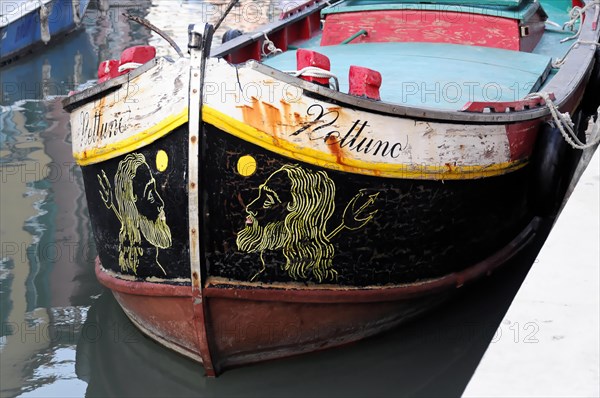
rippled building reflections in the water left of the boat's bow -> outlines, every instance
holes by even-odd
[[[81,173],[71,159],[59,100],[2,109],[0,260],[3,395],[72,379],[57,364],[74,352],[75,328],[99,286]],[[52,383],[50,382],[52,381]]]

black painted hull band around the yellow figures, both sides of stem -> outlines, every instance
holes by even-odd
[[[200,186],[204,198],[201,215],[201,247],[207,276],[249,282],[262,262],[266,267],[254,282],[326,282],[342,286],[383,286],[439,278],[484,260],[505,246],[531,219],[528,205],[531,176],[529,167],[498,177],[476,180],[431,181],[361,176],[302,164],[269,153],[255,145],[204,126]],[[124,156],[83,167],[88,206],[94,225],[100,259],[104,267],[137,278],[157,277],[174,283],[189,283],[187,125],[141,148],[146,159],[166,151],[171,163],[164,172],[154,172],[161,194],[172,246],[158,251],[148,242],[142,246],[136,272],[119,266],[121,225],[98,194],[98,175],[114,175]],[[252,156],[257,170],[241,176],[237,162]],[[337,275],[318,281],[310,272],[304,278],[285,270],[281,249],[261,253],[238,250],[236,238],[245,227],[246,206],[257,197],[257,188],[285,165],[323,171],[333,182],[335,209],[325,231],[333,230],[343,218],[346,204],[359,191],[377,194],[372,219],[356,230],[343,230],[330,239],[331,269]],[[273,186],[275,190],[284,187]],[[260,222],[260,221],[259,221]],[[165,272],[157,266],[157,259]],[[168,266],[164,266],[164,265]]]

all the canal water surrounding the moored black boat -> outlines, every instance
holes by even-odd
[[[160,55],[174,54],[123,13],[149,19],[185,48],[187,25],[214,23],[225,3],[92,1],[83,30],[2,67],[1,396],[459,396],[487,346],[518,332],[501,320],[552,220],[504,270],[416,322],[217,379],[144,337],[96,281],[81,172],[71,158],[60,101],[91,84],[98,63],[118,58],[126,47],[151,44]],[[228,28],[248,31],[269,22],[285,5],[242,1],[215,41]]]

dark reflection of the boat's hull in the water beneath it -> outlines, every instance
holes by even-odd
[[[92,305],[77,345],[86,396],[460,396],[541,247],[421,319],[337,349],[231,369],[216,379],[201,365],[146,338],[110,291]],[[504,337],[512,338],[510,333]]]

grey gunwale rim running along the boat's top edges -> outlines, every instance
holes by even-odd
[[[306,15],[308,15],[310,12],[314,12],[314,8],[322,8],[324,6],[326,6],[326,3],[315,3],[293,17],[269,25],[265,25],[267,27],[270,26],[271,30],[263,28],[257,32],[254,32],[251,35],[243,35],[237,37],[213,49],[213,51],[211,51],[211,58],[223,57],[242,46],[242,44],[248,44],[249,37],[252,39],[251,42],[257,41],[261,37],[263,37],[263,34],[269,34],[277,30],[283,29],[285,26],[306,17]],[[586,44],[575,45],[579,41],[598,42],[600,38],[600,29],[596,29],[595,31],[592,29],[593,22],[598,22],[594,20],[594,16],[594,10],[586,11],[583,27],[581,29],[579,38],[577,38],[577,41],[574,42],[574,48],[569,52],[569,54],[567,54],[564,64],[560,67],[560,69],[558,69],[558,72],[555,74],[555,76],[553,76],[551,80],[547,82],[547,85],[543,86],[543,88],[541,89],[541,91],[554,94],[556,98],[554,102],[559,109],[564,108],[567,104],[570,103],[572,97],[577,94],[582,82],[590,76],[594,67],[594,56],[597,51],[596,46],[588,46]],[[597,19],[600,19],[600,17],[598,17]],[[130,73],[118,76],[114,79],[103,82],[100,85],[95,85],[84,91],[67,97],[63,100],[63,107],[68,112],[71,112],[78,106],[90,102],[95,98],[101,97],[107,94],[109,90],[112,91],[112,89],[117,89],[129,80],[140,76],[144,72],[153,68],[156,65],[156,63],[157,59],[154,58],[153,60],[131,71]],[[511,111],[504,113],[476,113],[454,110],[438,110],[435,108],[386,103],[352,96],[350,94],[342,93],[327,87],[307,82],[298,77],[291,76],[283,71],[271,68],[256,60],[249,60],[245,63],[231,65],[235,68],[249,67],[251,69],[255,69],[260,73],[276,78],[284,83],[299,87],[303,89],[305,93],[310,93],[308,94],[309,96],[312,94],[320,96],[323,99],[332,100],[353,108],[377,112],[379,114],[391,115],[395,117],[408,117],[419,120],[443,121],[450,123],[454,122],[474,124],[510,124],[535,119],[548,118],[551,114],[550,109],[547,106],[541,106],[539,108],[523,111]],[[542,83],[542,85],[543,84],[544,83]],[[490,102],[490,104],[494,104],[494,102]]]

